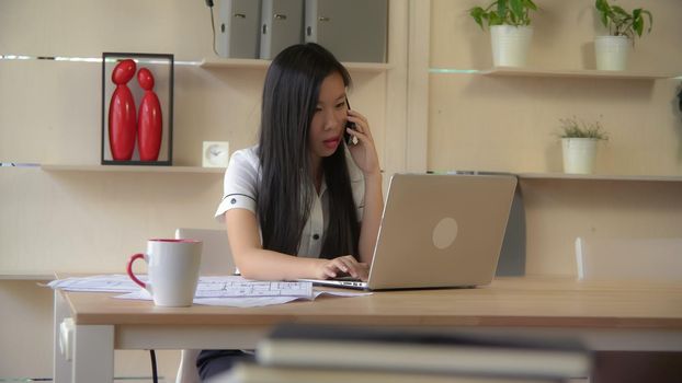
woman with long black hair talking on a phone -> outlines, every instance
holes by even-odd
[[[245,278],[367,279],[382,174],[367,119],[348,108],[350,84],[346,69],[317,44],[291,46],[270,65],[260,142],[234,153],[216,212]],[[346,146],[344,134],[356,143]],[[202,379],[242,357],[202,351]]]

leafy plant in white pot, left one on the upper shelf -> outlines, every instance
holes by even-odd
[[[537,11],[532,0],[496,0],[486,8],[474,7],[469,15],[485,30],[490,27],[492,62],[496,67],[523,67],[526,62],[533,27],[531,11]]]

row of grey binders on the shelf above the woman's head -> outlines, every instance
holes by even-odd
[[[388,0],[216,0],[216,51],[272,59],[317,43],[340,61],[386,62]]]

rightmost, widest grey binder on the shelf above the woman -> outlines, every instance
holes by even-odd
[[[341,61],[386,62],[388,0],[306,0],[305,40]]]

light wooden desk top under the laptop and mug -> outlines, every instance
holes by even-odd
[[[157,307],[111,293],[66,293],[77,324],[592,327],[682,330],[682,283],[499,278],[475,289],[377,291],[263,307]]]

